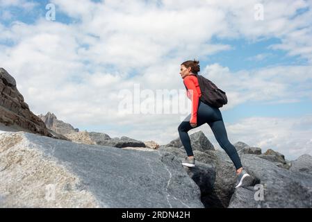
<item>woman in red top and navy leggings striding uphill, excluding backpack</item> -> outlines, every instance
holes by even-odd
[[[188,89],[187,96],[192,101],[191,114],[189,114],[188,117],[181,122],[178,128],[181,142],[188,155],[186,160],[183,160],[182,164],[186,167],[195,167],[195,157],[192,153],[188,131],[192,128],[202,126],[204,123],[208,123],[213,131],[213,134],[215,135],[215,139],[217,139],[218,144],[220,144],[227,155],[229,155],[234,166],[236,167],[236,175],[238,176],[236,188],[241,187],[250,182],[251,177],[243,169],[236,148],[227,138],[227,130],[225,129],[220,110],[202,102],[199,99],[202,95],[196,76],[199,71],[199,61],[197,60],[188,60],[181,64],[180,75],[183,78],[184,85],[186,85]]]

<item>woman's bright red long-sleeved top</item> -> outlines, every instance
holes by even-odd
[[[200,91],[198,80],[196,76],[186,76],[183,78],[183,83],[188,90],[186,96],[192,101],[192,112],[190,117],[190,123],[197,123],[197,109],[199,103],[199,97],[202,96]]]

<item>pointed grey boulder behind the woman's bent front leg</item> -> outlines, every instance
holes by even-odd
[[[211,144],[211,142],[202,131],[192,133],[190,135],[190,144],[193,151],[208,151],[215,149],[213,147],[213,144]],[[179,147],[184,149],[184,146],[179,137],[172,140],[169,144],[162,145],[161,147]]]

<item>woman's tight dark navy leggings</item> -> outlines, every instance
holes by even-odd
[[[198,110],[197,110],[197,127],[202,126],[202,124],[208,123],[215,135],[215,139],[219,145],[224,149],[224,151],[229,155],[236,169],[242,167],[240,162],[240,157],[236,151],[236,148],[229,142],[227,138],[227,130],[225,130],[222,114],[218,108],[199,100]],[[188,131],[192,129],[190,126],[190,114],[186,119],[184,119],[178,127],[179,136],[181,142],[186,149],[188,156],[193,155],[192,146],[190,145],[190,137],[188,136]]]

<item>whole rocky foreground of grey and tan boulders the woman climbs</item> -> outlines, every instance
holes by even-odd
[[[285,169],[261,157],[272,151],[262,154],[246,144],[242,152],[238,142],[234,145],[254,181],[235,189],[231,160],[224,151],[203,146],[201,134],[191,135],[202,147],[194,151],[196,167],[189,169],[181,166],[181,147],[140,151],[1,133],[0,206],[312,207],[311,156],[302,155]],[[53,201],[47,198],[51,185]]]

